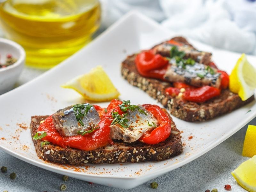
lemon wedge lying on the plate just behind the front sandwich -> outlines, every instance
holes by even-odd
[[[101,66],[92,68],[89,73],[71,79],[61,87],[74,89],[84,99],[91,101],[109,101],[120,95]]]

